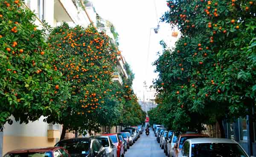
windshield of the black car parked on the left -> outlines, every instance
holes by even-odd
[[[65,148],[71,157],[77,156],[77,154],[87,156],[90,150],[90,141],[61,141],[56,146]]]

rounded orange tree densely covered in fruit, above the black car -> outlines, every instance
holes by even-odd
[[[61,118],[49,116],[47,121],[63,124],[61,139],[66,129],[82,133],[108,125],[106,122],[119,115],[122,95],[111,80],[119,52],[109,37],[92,26],[71,28],[63,23],[52,30],[48,45],[54,52],[52,65],[70,82],[72,94],[63,102],[68,105],[62,108]]]

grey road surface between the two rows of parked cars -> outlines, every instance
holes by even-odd
[[[163,149],[160,148],[154,136],[153,130],[150,128],[150,136],[143,134],[140,135],[139,140],[128,149],[125,157],[166,157]]]

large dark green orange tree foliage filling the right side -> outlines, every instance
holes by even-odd
[[[255,104],[255,0],[170,0],[162,20],[182,36],[154,65],[174,130],[201,130]],[[253,39],[254,38],[254,39]],[[223,133],[223,129],[221,130]],[[223,134],[222,134],[223,135]]]

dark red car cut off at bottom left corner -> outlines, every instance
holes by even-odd
[[[48,147],[9,151],[3,157],[70,157],[70,154],[62,147]]]

